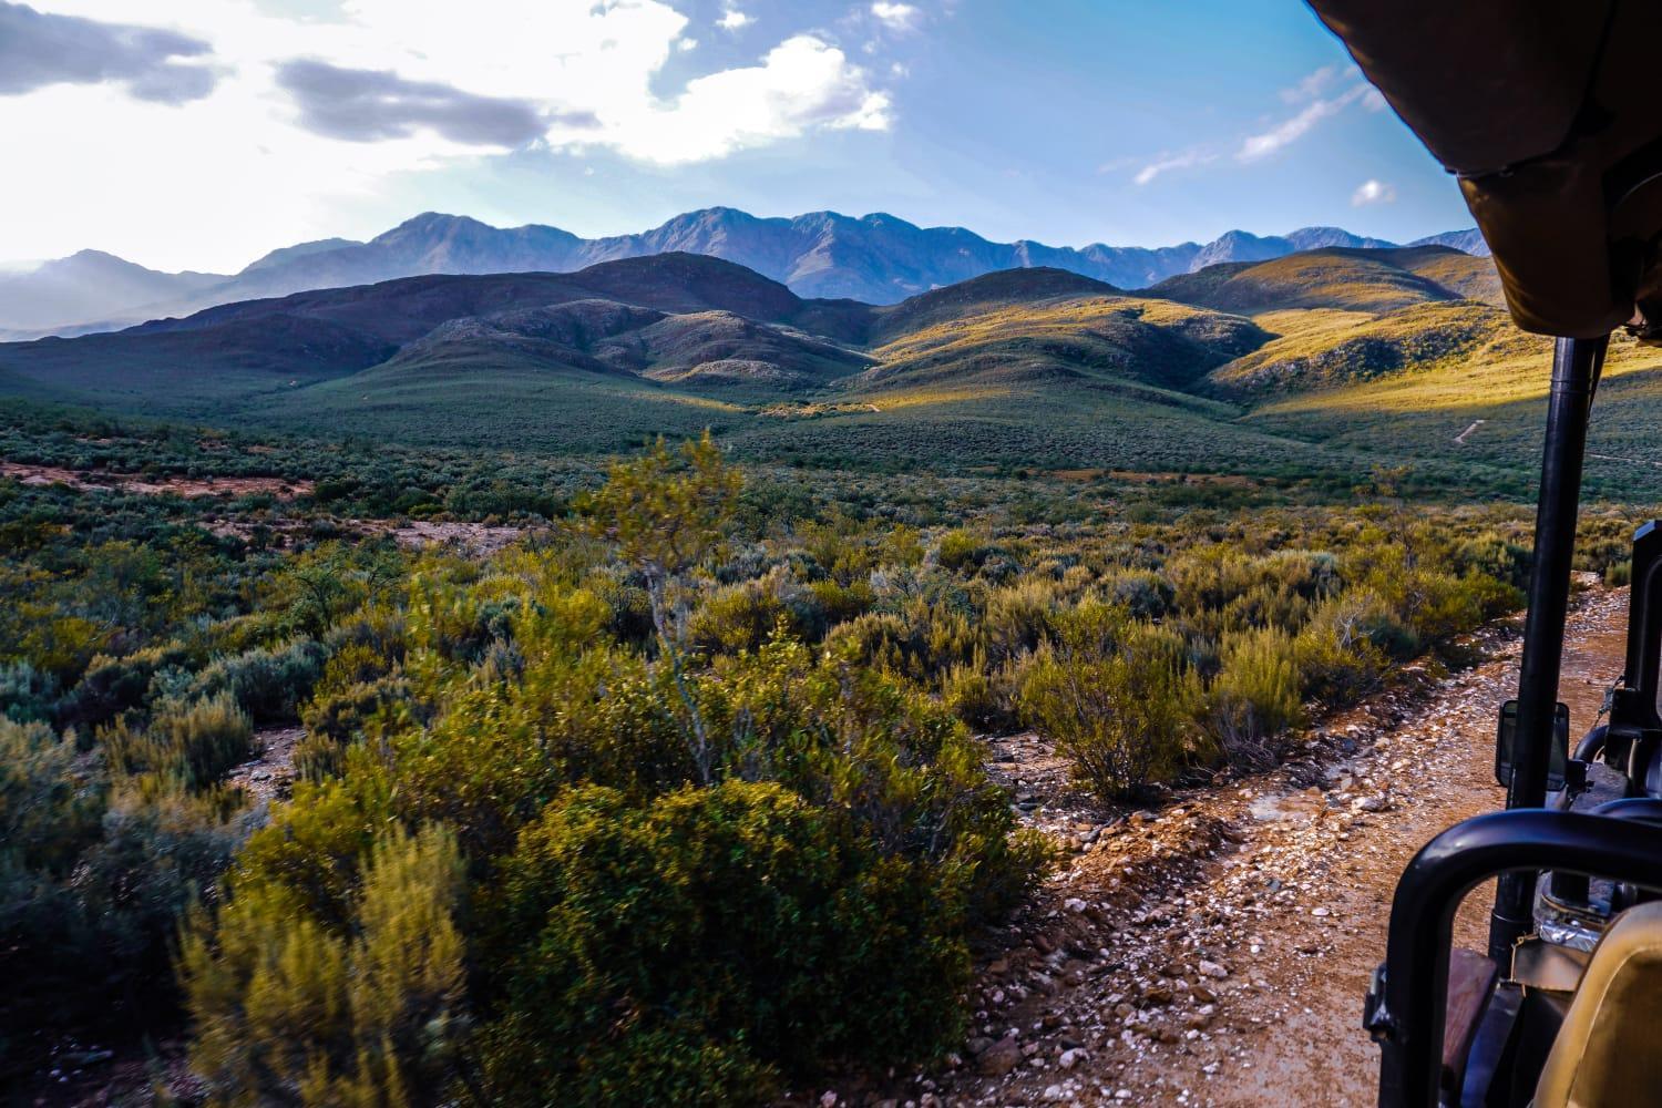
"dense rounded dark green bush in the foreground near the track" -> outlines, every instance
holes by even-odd
[[[525,829],[492,904],[490,1091],[725,1105],[941,1050],[969,955],[962,902],[924,877],[773,784],[645,809],[578,789]]]

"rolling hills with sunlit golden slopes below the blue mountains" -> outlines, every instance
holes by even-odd
[[[0,346],[0,392],[449,447],[612,453],[710,427],[783,463],[1335,488],[1411,449],[1428,480],[1527,492],[1546,344],[1496,287],[1487,259],[1446,248],[1318,249],[1148,296],[1017,269],[874,307],[665,254]],[[1609,404],[1649,427],[1657,369],[1619,347]],[[1605,453],[1645,450],[1627,435]]]

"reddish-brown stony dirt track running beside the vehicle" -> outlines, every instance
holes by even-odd
[[[1622,669],[1625,605],[1577,600],[1561,686],[1576,734]],[[992,741],[1024,821],[1067,860],[981,962],[944,1066],[796,1103],[1371,1105],[1361,1002],[1391,892],[1431,836],[1504,804],[1494,719],[1517,630],[1476,636],[1487,661],[1463,673],[1414,668],[1271,772],[1152,811],[1095,807],[1037,736]],[[1468,897],[1461,945],[1483,949],[1489,897]]]

